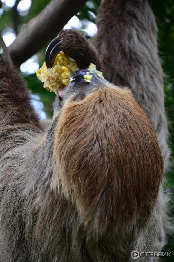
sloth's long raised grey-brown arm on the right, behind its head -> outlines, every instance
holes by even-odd
[[[167,167],[170,152],[163,71],[151,7],[146,0],[103,0],[96,24],[93,43],[104,61],[104,77],[131,89],[155,130]]]

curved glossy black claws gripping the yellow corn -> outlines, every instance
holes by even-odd
[[[61,51],[61,42],[59,38],[56,37],[51,41],[45,51],[45,63],[47,68],[52,67],[57,54]]]

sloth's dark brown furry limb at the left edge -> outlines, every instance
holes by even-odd
[[[2,125],[29,124],[40,128],[39,119],[31,107],[26,83],[17,75],[7,48],[0,36],[3,53],[0,55],[0,113]]]

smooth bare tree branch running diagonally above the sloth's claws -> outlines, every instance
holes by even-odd
[[[19,66],[38,52],[87,2],[87,0],[52,0],[19,32],[8,47],[13,62]]]

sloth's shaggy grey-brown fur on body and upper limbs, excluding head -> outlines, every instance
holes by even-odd
[[[148,2],[102,1],[97,21],[95,43],[104,58],[102,71],[110,82],[131,88],[167,162],[163,72]],[[0,55],[0,262],[131,262],[133,249],[160,252],[170,229],[162,185],[148,222],[144,218],[130,230],[126,225],[118,232],[114,229],[119,226],[113,225],[115,238],[107,232],[103,238],[87,234],[71,196],[64,197],[61,185],[54,186],[59,113],[45,133],[2,37],[0,45],[4,50]]]

